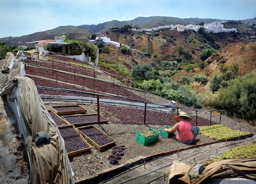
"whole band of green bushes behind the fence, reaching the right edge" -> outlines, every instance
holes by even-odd
[[[153,68],[153,67],[155,68]],[[172,67],[171,62],[161,61],[158,64],[139,64],[132,68],[130,75],[136,80],[133,87],[148,91],[166,99],[173,99],[189,107],[202,108],[204,102],[192,90],[190,84],[196,82],[205,85],[208,77],[196,74],[193,78],[184,76],[179,80],[179,84],[172,82],[169,77],[162,77],[158,70],[160,67]],[[225,109],[232,117],[252,120],[256,119],[256,73],[249,73],[245,77],[238,77],[238,65],[227,67],[223,65],[221,73],[216,74],[210,80],[211,90],[218,91],[218,94],[211,96],[210,107]]]

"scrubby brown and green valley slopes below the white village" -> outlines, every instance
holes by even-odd
[[[239,28],[244,27],[239,24]],[[189,107],[224,109],[233,117],[254,122],[256,106],[245,101],[256,100],[255,75],[246,76],[256,72],[256,42],[247,39],[247,34],[245,29],[242,33],[210,34],[211,39],[207,40],[194,31],[107,31],[105,35],[111,40],[129,46],[129,52],[123,53],[122,48],[109,46],[108,52],[100,53],[99,61],[101,67],[108,65],[116,72],[127,71],[119,72],[121,74],[130,72],[129,77],[135,80],[143,77],[136,77],[142,72],[134,70],[148,70],[146,65],[149,65],[152,70],[143,72],[147,73],[144,76],[146,81],[135,82],[134,87]],[[204,60],[202,54],[206,51],[210,55]],[[170,64],[171,61],[177,61],[177,64]],[[231,90],[232,85],[238,86],[241,82],[239,90],[224,90]],[[220,98],[227,98],[226,104]]]

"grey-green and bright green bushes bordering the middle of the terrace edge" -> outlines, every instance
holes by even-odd
[[[162,61],[160,66],[170,66],[166,61]],[[159,66],[158,66],[159,67]],[[153,69],[148,64],[139,64],[132,67],[130,75],[136,80],[132,83],[134,88],[161,96],[165,99],[179,101],[186,106],[202,108],[202,102],[198,100],[189,86],[178,85],[171,82],[169,77],[163,78],[159,75],[158,70]],[[196,80],[205,81],[203,77],[196,76]],[[203,79],[202,79],[203,78]]]

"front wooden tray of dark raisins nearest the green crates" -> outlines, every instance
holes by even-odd
[[[89,134],[87,134],[83,131],[83,130],[88,130],[88,129],[90,129],[89,134],[91,134],[91,135],[89,135]],[[100,129],[96,128],[93,125],[89,125],[89,126],[85,126],[85,127],[79,127],[79,128],[77,128],[77,130],[79,130],[79,132],[81,133],[81,135],[83,135],[85,140],[87,140],[89,143],[93,144],[93,146],[95,146],[95,148],[97,148],[100,151],[102,151],[106,148],[109,148],[110,146],[113,146],[114,144],[116,144],[116,141],[113,138],[106,135],[106,133],[102,132]],[[96,133],[94,133],[94,132],[96,132]],[[96,136],[98,140],[102,140],[104,138],[106,143],[103,144],[103,145],[100,145],[100,144],[96,143],[96,141],[93,140],[93,136]]]

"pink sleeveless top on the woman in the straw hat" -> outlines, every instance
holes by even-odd
[[[177,128],[177,140],[179,141],[190,141],[194,138],[191,131],[191,123],[187,120],[181,120],[179,127]]]

